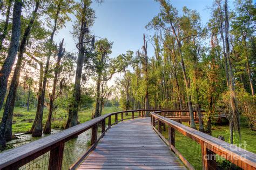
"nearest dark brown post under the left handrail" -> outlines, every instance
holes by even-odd
[[[49,158],[49,170],[60,170],[62,169],[62,159],[63,159],[63,152],[64,152],[64,142],[60,142],[59,146],[52,149],[50,151],[50,158]]]

